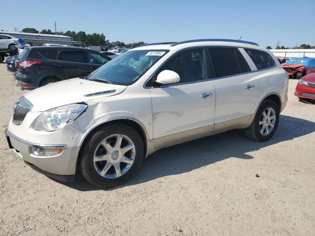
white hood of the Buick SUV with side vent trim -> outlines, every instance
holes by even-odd
[[[24,94],[24,97],[32,103],[32,111],[43,112],[71,103],[113,96],[123,92],[125,89],[126,86],[122,85],[75,78],[34,89]]]

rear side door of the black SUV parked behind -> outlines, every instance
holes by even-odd
[[[65,79],[84,77],[89,74],[89,66],[84,63],[82,50],[61,50],[55,66],[63,71]]]

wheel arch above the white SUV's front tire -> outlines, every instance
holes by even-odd
[[[85,145],[85,143],[90,138],[90,136],[93,134],[93,132],[95,130],[99,129],[100,127],[103,127],[103,126],[109,125],[109,124],[113,124],[113,123],[124,123],[124,124],[127,124],[127,125],[134,127],[135,130],[138,131],[138,133],[140,134],[140,136],[142,138],[142,141],[144,144],[144,153],[145,153],[145,156],[147,156],[147,153],[149,150],[149,147],[148,147],[149,134],[148,134],[148,131],[146,130],[144,124],[136,118],[116,117],[116,118],[110,118],[110,119],[106,119],[106,120],[103,120],[101,122],[98,122],[88,129],[88,131],[81,138],[79,145],[78,145],[79,148],[77,151],[77,163],[79,161],[81,151],[83,150],[82,147]]]

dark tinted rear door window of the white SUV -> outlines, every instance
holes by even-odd
[[[217,77],[241,73],[241,68],[233,48],[209,48]]]

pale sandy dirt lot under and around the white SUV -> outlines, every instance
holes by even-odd
[[[0,64],[0,235],[315,235],[315,105],[293,96],[296,83],[270,141],[235,130],[165,148],[103,190],[54,181],[8,149],[25,92]]]

